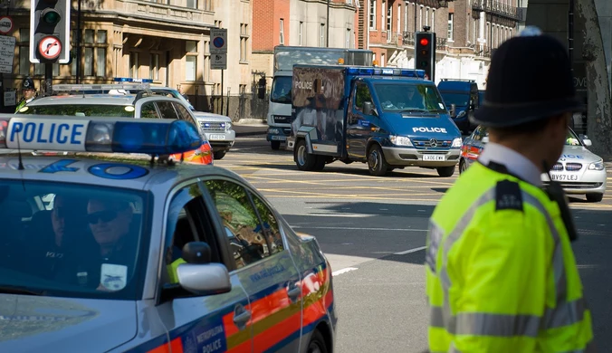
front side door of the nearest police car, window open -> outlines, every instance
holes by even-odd
[[[246,291],[235,273],[230,272],[232,290],[209,296],[187,295],[177,291],[169,263],[180,258],[185,243],[204,241],[212,250],[212,262],[222,262],[232,270],[233,263],[225,234],[206,211],[201,184],[192,182],[170,196],[164,257],[161,269],[161,299],[158,313],[169,333],[174,352],[252,352],[253,336]],[[215,226],[216,224],[216,226]],[[227,263],[229,262],[229,263]]]

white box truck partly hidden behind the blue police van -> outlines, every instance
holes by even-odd
[[[272,149],[281,148],[291,132],[292,70],[294,64],[338,64],[371,66],[374,52],[364,49],[319,48],[305,46],[274,47],[272,91],[268,101],[266,140]],[[259,98],[264,98],[260,91]]]

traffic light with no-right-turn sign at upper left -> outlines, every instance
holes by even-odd
[[[31,0],[30,62],[70,62],[71,0]]]

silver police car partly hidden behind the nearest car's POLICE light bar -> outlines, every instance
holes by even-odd
[[[148,84],[58,84],[53,86],[55,95],[39,97],[17,113],[105,118],[184,119],[196,124],[196,118],[186,105],[174,98],[148,95],[145,91],[139,94],[100,93],[101,91],[120,91],[134,87],[145,90]],[[183,158],[196,164],[213,164],[213,148],[206,138],[206,133],[200,131],[200,134],[204,140],[202,146],[171,157]],[[44,151],[44,153],[49,152]]]

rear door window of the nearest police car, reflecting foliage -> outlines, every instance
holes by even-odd
[[[271,227],[275,229],[263,231],[264,227],[243,186],[225,180],[208,180],[205,185],[224,224],[237,268],[262,260],[277,251],[270,242],[272,237],[266,234],[278,230],[278,225],[274,220]]]

